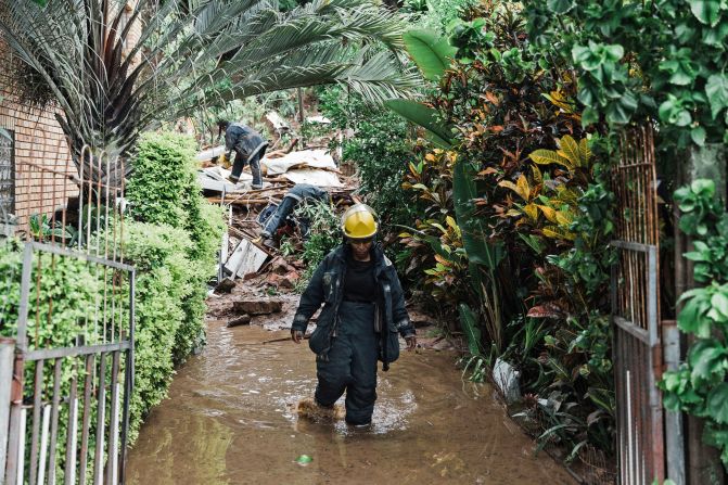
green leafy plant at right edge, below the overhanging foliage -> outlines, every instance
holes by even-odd
[[[695,180],[675,193],[680,229],[693,239],[693,277],[700,288],[680,296],[679,329],[695,341],[678,370],[666,372],[660,387],[665,407],[705,420],[703,439],[720,450],[728,468],[728,213],[713,180]]]

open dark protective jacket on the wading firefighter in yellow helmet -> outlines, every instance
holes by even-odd
[[[308,288],[301,296],[298,309],[293,318],[291,329],[305,332],[308,320],[323,304],[323,309],[316,323],[316,331],[309,340],[309,346],[324,359],[331,347],[331,339],[336,336],[336,328],[341,318],[346,318],[346,316],[339,315],[339,308],[344,297],[344,278],[349,251],[347,244],[342,244],[323,258],[316,268]],[[384,362],[384,370],[387,370],[389,362],[395,361],[399,356],[397,334],[403,337],[414,335],[414,328],[405,308],[405,295],[394,265],[384,256],[379,245],[372,247],[372,257],[374,258],[374,278],[379,289],[375,318],[382,322],[380,329],[376,328],[380,327],[378,322],[372,321],[372,330],[378,332],[381,330],[379,357]]]

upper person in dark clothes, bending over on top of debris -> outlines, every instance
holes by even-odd
[[[245,165],[251,166],[253,174],[253,189],[263,188],[263,177],[260,176],[260,158],[266,154],[268,142],[263,139],[260,133],[250,126],[242,123],[230,123],[226,119],[217,122],[218,137],[225,131],[226,157],[230,159],[232,151],[235,151],[235,161],[232,164],[232,174],[229,179],[233,183],[240,180],[240,174],[243,173]]]

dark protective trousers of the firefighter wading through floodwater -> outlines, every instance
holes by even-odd
[[[346,422],[367,424],[376,400],[378,339],[374,304],[342,302],[336,336],[331,340],[328,360],[316,361],[316,400],[333,406],[346,391]]]

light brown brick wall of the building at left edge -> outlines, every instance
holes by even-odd
[[[14,133],[15,197],[10,210],[18,217],[18,229],[27,227],[31,214],[50,214],[66,204],[78,189],[63,174],[77,174],[68,144],[55,120],[55,109],[33,109],[10,92],[13,56],[0,37],[0,128]],[[35,165],[35,166],[34,166]],[[41,170],[44,167],[52,171]]]

